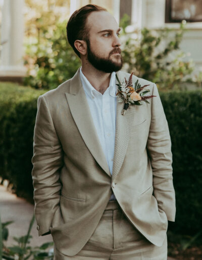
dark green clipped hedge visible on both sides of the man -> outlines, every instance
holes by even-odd
[[[37,97],[44,93],[0,85],[0,175],[14,184],[18,196],[33,197],[31,158]],[[169,123],[176,190],[174,232],[195,234],[202,220],[202,91],[161,93]]]

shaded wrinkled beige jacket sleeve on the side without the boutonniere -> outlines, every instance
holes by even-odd
[[[44,96],[37,101],[32,179],[38,235],[46,235],[60,207],[60,170],[63,151]]]

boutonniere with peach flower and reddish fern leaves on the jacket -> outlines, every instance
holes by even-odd
[[[128,80],[123,81],[120,83],[119,78],[116,75],[117,81],[119,84],[116,84],[118,86],[118,92],[116,95],[119,95],[119,101],[118,102],[123,102],[124,101],[124,107],[121,111],[122,115],[125,115],[126,110],[130,105],[142,105],[141,101],[144,101],[146,103],[149,103],[147,99],[156,97],[153,95],[150,96],[144,96],[146,93],[150,92],[150,90],[145,89],[145,87],[149,85],[144,85],[141,86],[138,83],[138,80],[132,84],[132,75],[131,73],[130,77]]]

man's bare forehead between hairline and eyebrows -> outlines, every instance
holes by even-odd
[[[87,18],[87,26],[93,32],[119,29],[115,18],[106,11],[92,12]]]

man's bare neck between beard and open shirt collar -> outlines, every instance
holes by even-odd
[[[90,84],[101,94],[104,94],[110,84],[111,73],[96,70],[89,64],[82,64],[82,73]]]

